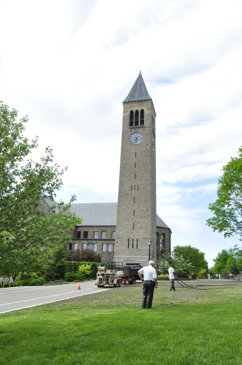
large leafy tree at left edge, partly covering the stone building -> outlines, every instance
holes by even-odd
[[[69,204],[53,205],[55,214],[35,209],[44,198],[53,201],[67,167],[53,164],[49,147],[39,162],[28,159],[22,166],[37,147],[37,137],[29,142],[22,134],[27,121],[25,116],[17,122],[17,111],[0,102],[0,276],[13,279],[19,272],[40,272],[70,239],[66,232],[81,223],[69,212],[75,196]]]

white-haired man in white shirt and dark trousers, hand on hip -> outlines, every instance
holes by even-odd
[[[143,300],[141,308],[150,309],[152,306],[152,300],[154,295],[154,288],[158,287],[157,274],[154,269],[155,262],[150,260],[149,265],[138,271],[140,280],[143,283]],[[144,278],[142,277],[142,274]]]

